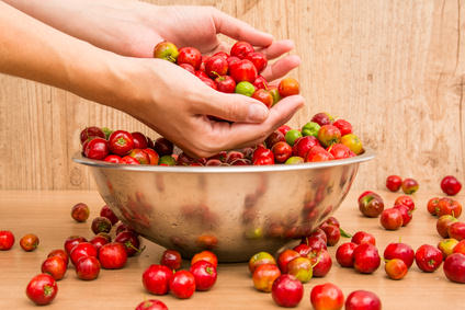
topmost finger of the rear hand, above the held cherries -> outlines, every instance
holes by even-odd
[[[269,46],[273,42],[271,34],[261,32],[219,10],[213,11],[213,21],[216,33],[222,33],[237,41],[246,41],[253,46]]]

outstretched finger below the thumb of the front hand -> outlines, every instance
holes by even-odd
[[[263,141],[276,128],[287,123],[302,106],[304,106],[303,96],[287,96],[270,110],[269,117],[261,124],[235,123],[223,127],[220,133],[225,142],[223,148],[241,148]]]

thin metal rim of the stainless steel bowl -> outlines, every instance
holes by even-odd
[[[274,171],[298,171],[313,170],[321,168],[331,168],[338,165],[348,165],[368,161],[375,158],[375,153],[371,149],[365,149],[363,154],[339,160],[321,161],[321,162],[304,162],[298,164],[272,164],[272,165],[150,165],[150,164],[117,164],[103,160],[93,160],[84,158],[80,152],[75,153],[72,160],[75,162],[94,167],[115,169],[124,171],[145,171],[145,172],[168,172],[168,173],[243,173],[243,172],[274,172]]]

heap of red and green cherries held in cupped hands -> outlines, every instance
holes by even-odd
[[[298,82],[293,78],[281,80],[277,87],[269,84],[260,76],[266,68],[266,56],[247,42],[237,42],[230,54],[218,51],[209,57],[202,56],[195,47],[178,49],[170,42],[161,42],[155,47],[154,57],[177,64],[214,90],[251,96],[268,107],[281,97],[299,93]]]

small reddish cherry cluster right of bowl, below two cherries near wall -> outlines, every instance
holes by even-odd
[[[384,209],[383,198],[372,191],[366,191],[359,197],[359,209],[366,217],[381,216],[379,221],[385,229],[397,230],[411,221],[415,203],[409,196],[399,196],[394,202],[394,207]]]

